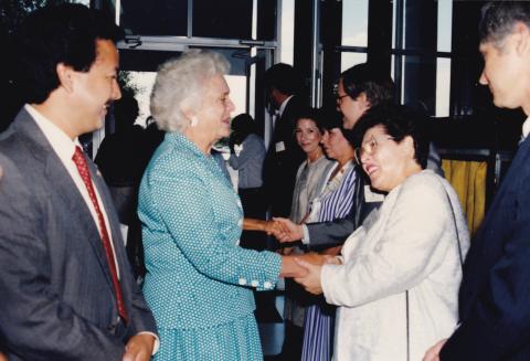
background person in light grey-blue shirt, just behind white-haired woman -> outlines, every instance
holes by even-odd
[[[248,114],[234,117],[231,127],[229,164],[239,171],[237,194],[243,204],[243,214],[245,219],[265,220],[266,204],[262,188],[265,145]],[[262,232],[243,231],[240,244],[245,248],[263,251],[266,248],[266,238]]]

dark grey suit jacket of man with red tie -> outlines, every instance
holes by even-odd
[[[118,322],[99,232],[51,145],[22,109],[0,136],[0,344],[10,360],[121,360],[156,332],[125,255],[116,212],[88,160],[109,221],[129,322]]]

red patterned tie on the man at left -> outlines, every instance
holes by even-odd
[[[110,275],[113,277],[114,291],[116,293],[116,300],[118,304],[118,314],[121,319],[127,322],[127,311],[125,310],[124,297],[121,295],[121,287],[119,286],[118,273],[116,272],[116,263],[114,261],[113,246],[110,245],[110,237],[108,236],[107,226],[103,217],[102,210],[99,209],[99,203],[97,202],[96,193],[94,192],[94,185],[92,184],[91,173],[88,171],[88,166],[86,163],[85,156],[81,147],[75,147],[74,156],[72,157],[77,171],[80,172],[83,182],[86,185],[88,195],[91,197],[92,203],[96,209],[97,221],[99,222],[99,230],[102,232],[103,247],[105,248],[105,255],[108,263],[108,268],[110,268]]]

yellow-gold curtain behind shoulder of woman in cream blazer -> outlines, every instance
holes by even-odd
[[[474,235],[486,211],[487,163],[443,159],[442,168],[460,199],[469,233]]]

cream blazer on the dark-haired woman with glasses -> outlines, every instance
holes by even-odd
[[[468,247],[445,179],[424,170],[393,189],[347,240],[343,264],[322,267],[326,300],[339,306],[335,360],[422,360],[456,327]]]

